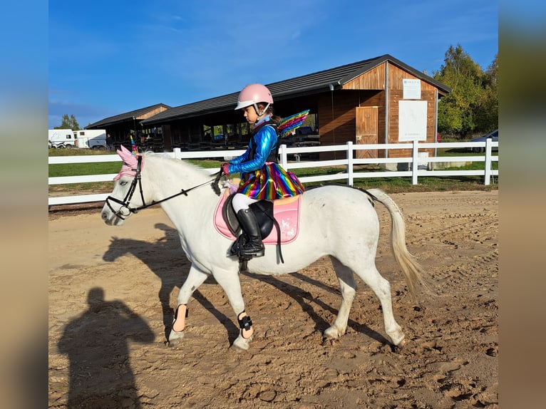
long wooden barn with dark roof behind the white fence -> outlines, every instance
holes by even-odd
[[[405,143],[416,138],[434,143],[438,100],[450,92],[448,86],[388,54],[264,85],[271,90],[276,115],[284,118],[310,110],[302,128],[284,140],[289,146]],[[163,109],[139,120],[135,128],[161,140],[165,151],[242,149],[250,130],[242,113],[234,110],[238,94],[239,90]],[[102,122],[91,126],[97,128]],[[407,156],[404,151],[391,151],[391,157]],[[356,153],[358,157],[388,155],[387,150]],[[320,154],[321,160],[335,158],[336,152]]]

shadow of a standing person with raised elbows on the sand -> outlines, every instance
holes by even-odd
[[[123,301],[105,301],[100,287],[87,301],[58,341],[70,362],[66,408],[140,408],[128,341],[151,343],[154,333]]]

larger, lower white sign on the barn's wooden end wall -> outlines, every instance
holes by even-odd
[[[427,101],[398,101],[398,142],[426,140]]]

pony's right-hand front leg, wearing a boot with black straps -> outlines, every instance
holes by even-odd
[[[247,351],[250,348],[254,328],[252,328],[252,320],[247,315],[247,311],[244,310],[239,273],[238,271],[221,271],[212,274],[225,291],[239,323],[239,336],[233,341],[231,348],[237,352]]]

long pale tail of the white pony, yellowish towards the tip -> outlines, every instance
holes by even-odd
[[[411,296],[413,296],[413,299],[416,299],[416,286],[418,284],[421,284],[426,291],[432,292],[430,286],[423,278],[423,267],[406,247],[406,224],[404,223],[400,208],[383,190],[370,189],[366,190],[366,192],[371,195],[374,201],[380,202],[385,206],[391,215],[391,250],[398,266],[402,269]]]

